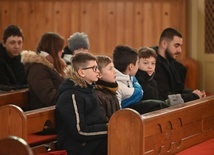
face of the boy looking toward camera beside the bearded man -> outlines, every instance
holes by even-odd
[[[155,71],[156,59],[154,57],[149,58],[140,58],[139,60],[139,69],[143,70],[151,76]]]

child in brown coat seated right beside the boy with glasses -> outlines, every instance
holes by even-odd
[[[96,82],[95,93],[100,103],[100,109],[106,122],[111,115],[120,109],[116,96],[118,84],[114,64],[108,56],[97,56],[99,80]]]

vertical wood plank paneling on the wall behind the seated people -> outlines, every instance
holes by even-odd
[[[9,24],[22,28],[27,50],[46,31],[65,40],[80,31],[88,34],[92,53],[110,56],[118,44],[157,45],[161,31],[174,27],[183,34],[186,55],[186,0],[1,0],[0,36]]]

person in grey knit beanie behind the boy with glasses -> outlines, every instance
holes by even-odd
[[[68,38],[68,46],[64,48],[62,58],[69,65],[71,57],[79,52],[88,52],[90,43],[87,34],[76,32]]]

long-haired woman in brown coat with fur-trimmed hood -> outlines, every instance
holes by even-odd
[[[63,45],[64,39],[59,34],[46,32],[36,52],[22,52],[29,84],[29,110],[55,105],[57,89],[65,76]]]

